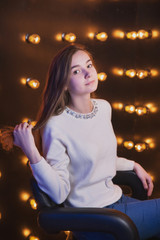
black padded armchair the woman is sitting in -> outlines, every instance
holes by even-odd
[[[119,171],[113,181],[115,184],[128,185],[132,197],[141,200],[147,198],[134,171]],[[34,178],[31,187],[38,204],[38,224],[48,234],[60,231],[100,231],[113,234],[117,240],[139,240],[136,226],[120,211],[108,208],[64,208],[63,204],[55,204],[40,190]]]

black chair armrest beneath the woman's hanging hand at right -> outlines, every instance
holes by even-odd
[[[147,191],[144,189],[141,180],[138,178],[134,171],[117,171],[116,176],[113,178],[114,184],[127,185],[132,190],[132,197],[139,200],[146,200]]]

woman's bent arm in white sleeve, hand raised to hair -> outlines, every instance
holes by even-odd
[[[70,192],[68,164],[69,157],[65,147],[46,127],[43,133],[45,158],[39,153],[32,125],[21,123],[14,129],[14,144],[20,147],[30,162],[30,167],[39,187],[57,204],[61,204]]]

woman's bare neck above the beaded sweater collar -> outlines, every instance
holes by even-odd
[[[78,113],[90,113],[93,110],[93,103],[89,98],[80,98],[80,99],[74,99],[74,101],[71,101],[68,105],[69,108],[71,108],[73,111]]]

